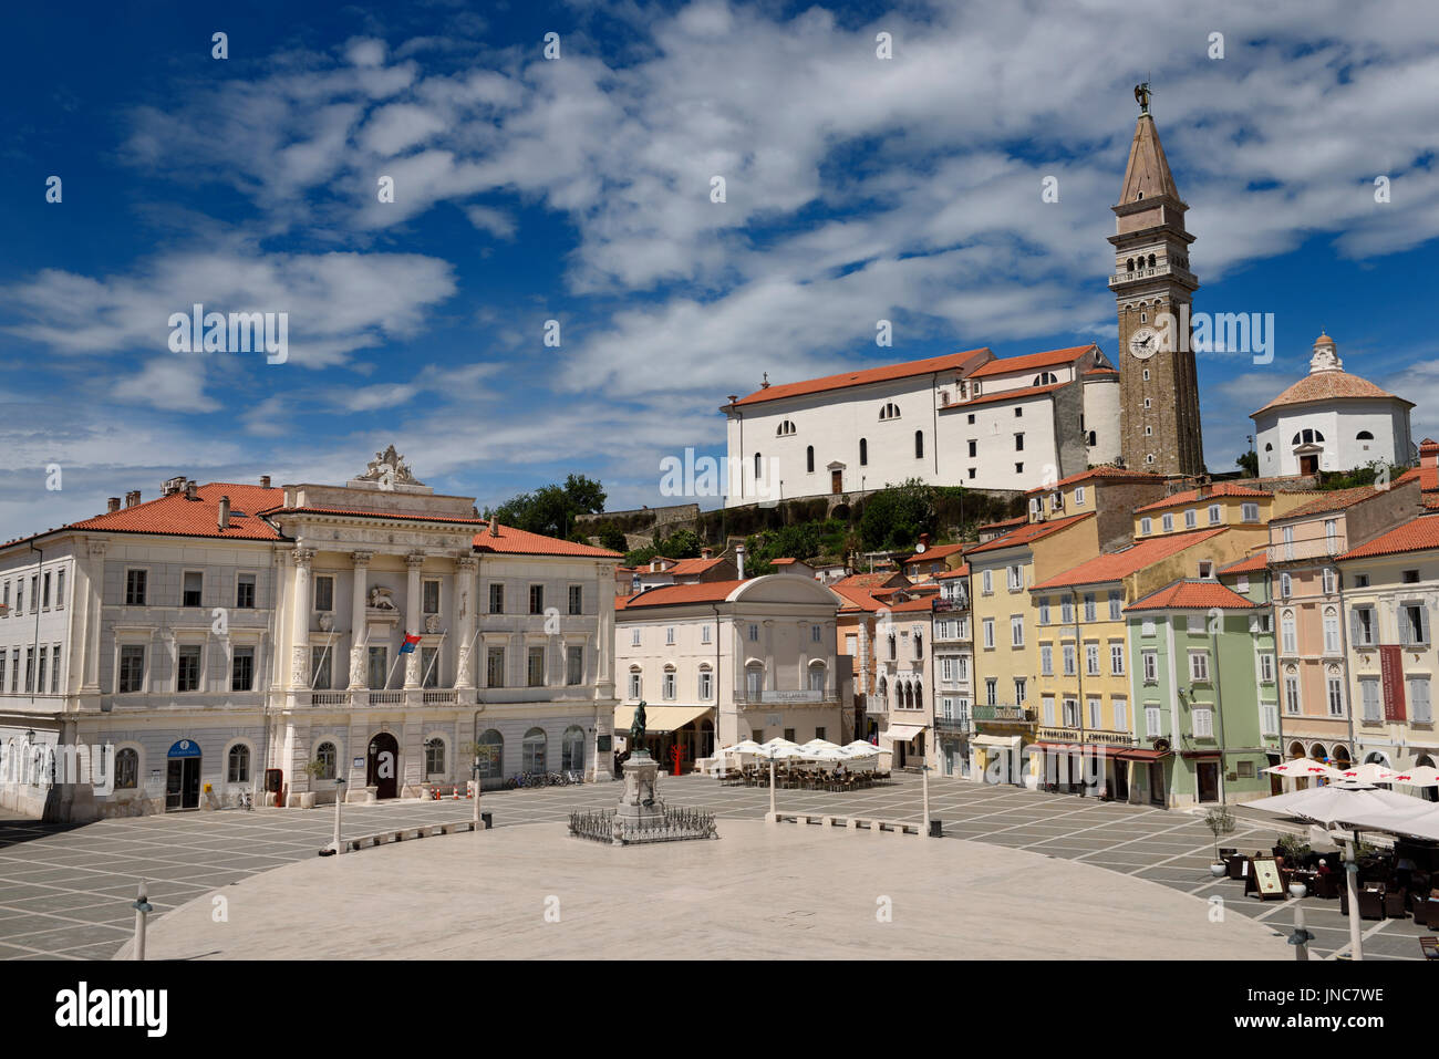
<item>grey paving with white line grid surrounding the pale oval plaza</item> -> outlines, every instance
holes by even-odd
[[[486,793],[482,809],[496,827],[567,820],[570,809],[609,806],[614,784]],[[714,810],[722,819],[763,819],[763,788],[721,787],[714,778],[661,778],[661,797],[675,806]],[[781,812],[881,816],[918,822],[920,778],[895,774],[889,786],[833,794],[777,791]],[[1243,883],[1213,879],[1213,840],[1194,814],[1101,803],[954,778],[931,778],[930,814],[947,836],[1081,860],[1150,879],[1199,898],[1220,895],[1226,912],[1288,934],[1294,901],[1243,896]],[[347,806],[345,836],[465,820],[468,801],[390,801]],[[1222,845],[1268,852],[1276,830],[1236,814],[1239,830]],[[134,930],[135,883],[148,879],[157,914],[220,886],[281,865],[314,858],[334,832],[334,812],[223,810],[101,820],[83,827],[0,820],[0,958],[111,958]],[[460,837],[460,836],[456,836]],[[449,842],[449,837],[426,842]],[[920,839],[895,839],[920,842]],[[348,856],[366,856],[368,850]],[[1305,898],[1315,957],[1345,954],[1348,921],[1337,901]],[[1423,928],[1410,919],[1363,921],[1364,958],[1420,958]],[[1278,941],[1275,944],[1282,944]]]

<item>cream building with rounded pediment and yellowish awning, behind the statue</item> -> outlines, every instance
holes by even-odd
[[[646,704],[648,731],[684,763],[740,740],[846,742],[850,689],[835,653],[840,599],[813,577],[659,586],[616,607],[614,658],[623,737]],[[848,673],[848,666],[845,669]],[[668,765],[669,761],[662,760]],[[682,764],[684,767],[684,764]]]

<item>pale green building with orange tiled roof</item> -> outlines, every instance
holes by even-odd
[[[1179,809],[1271,794],[1279,715],[1263,557],[1173,581],[1125,619],[1134,730],[1153,751],[1130,800]]]

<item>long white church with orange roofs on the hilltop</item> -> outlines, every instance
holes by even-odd
[[[1097,345],[989,350],[731,397],[727,506],[930,485],[1029,489],[1120,456],[1120,373]]]

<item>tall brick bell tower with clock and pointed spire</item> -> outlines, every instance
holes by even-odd
[[[1120,449],[1124,465],[1161,475],[1199,475],[1204,445],[1190,311],[1199,279],[1189,271],[1189,206],[1150,115],[1148,82],[1135,86],[1140,118],[1115,214],[1114,291],[1120,314]]]

